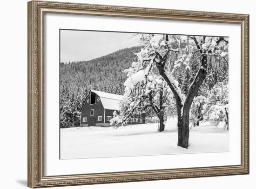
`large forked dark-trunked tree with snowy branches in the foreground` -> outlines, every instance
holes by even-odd
[[[150,72],[158,70],[158,75],[166,82],[175,98],[178,122],[178,145],[189,146],[189,113],[190,107],[200,86],[207,76],[209,58],[219,60],[228,55],[228,39],[223,37],[198,37],[159,34],[141,34],[144,49],[138,56],[140,69],[131,74],[125,85],[126,98],[134,98],[133,93],[141,90],[140,82],[148,80]],[[175,61],[174,61],[175,60]],[[226,60],[226,59],[225,59]],[[182,93],[181,82],[177,72],[194,69],[192,79],[182,84],[187,86]],[[184,80],[183,80],[184,81]],[[146,85],[146,83],[145,83]],[[143,94],[143,93],[138,93]],[[128,107],[132,110],[140,106],[137,100]],[[128,115],[129,116],[129,115]]]

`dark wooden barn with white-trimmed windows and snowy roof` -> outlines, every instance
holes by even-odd
[[[116,111],[119,114],[122,95],[90,90],[81,109],[81,126],[109,126]],[[128,124],[145,123],[145,115],[133,115]]]

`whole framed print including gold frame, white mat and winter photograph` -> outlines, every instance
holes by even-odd
[[[249,174],[249,15],[28,2],[28,186]]]

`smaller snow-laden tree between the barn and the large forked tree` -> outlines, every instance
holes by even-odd
[[[119,119],[113,118],[111,125],[126,125],[132,114],[148,114],[157,116],[159,119],[159,131],[164,131],[164,120],[173,110],[171,101],[171,90],[167,88],[162,77],[156,75],[154,69],[143,69],[141,56],[146,51],[137,53],[138,61],[132,63],[131,67],[124,72],[128,78],[125,85],[124,101],[121,103],[121,114]]]

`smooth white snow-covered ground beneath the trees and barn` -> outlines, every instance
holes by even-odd
[[[188,149],[177,146],[176,119],[167,120],[165,131],[157,130],[157,123],[61,129],[61,159],[229,151],[229,132],[222,124],[192,127]]]

